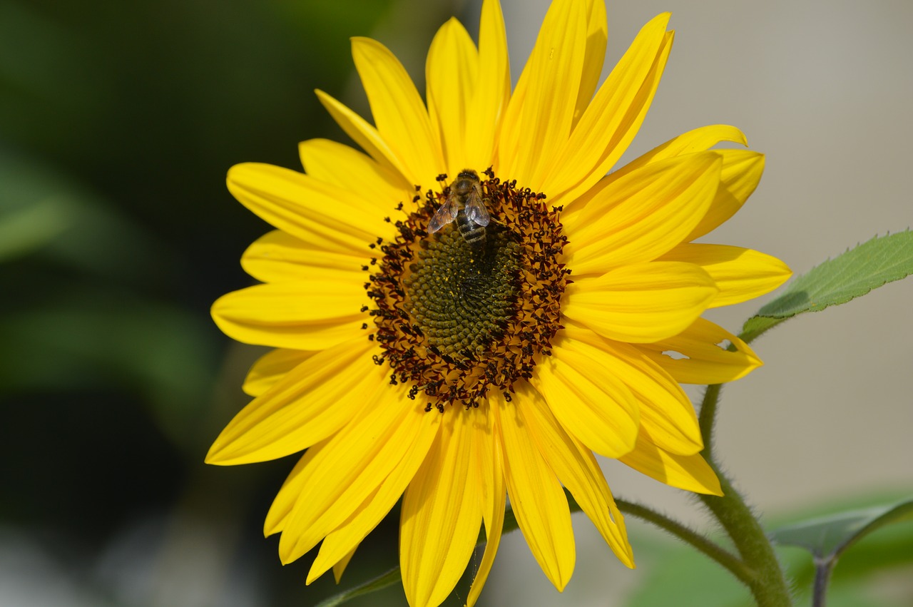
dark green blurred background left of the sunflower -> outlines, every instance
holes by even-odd
[[[312,555],[282,568],[262,539],[292,461],[203,464],[262,353],[209,317],[250,284],[238,259],[269,229],[225,174],[345,140],[313,89],[363,110],[349,37],[398,23],[421,66],[456,4],[0,2],[0,604],[337,590],[331,575],[306,589]],[[392,567],[396,534],[386,521],[343,587]]]

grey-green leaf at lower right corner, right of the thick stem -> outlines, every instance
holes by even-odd
[[[776,529],[771,537],[779,544],[807,549],[819,559],[835,559],[876,529],[907,519],[913,519],[913,499],[813,518]]]

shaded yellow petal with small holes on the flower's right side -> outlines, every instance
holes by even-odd
[[[639,349],[680,383],[734,382],[763,364],[747,343],[706,319]]]

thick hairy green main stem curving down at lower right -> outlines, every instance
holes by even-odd
[[[722,528],[726,529],[732,543],[739,550],[742,562],[751,571],[746,583],[759,607],[788,607],[792,605],[792,597],[771,540],[767,538],[764,529],[761,529],[761,522],[751,512],[745,500],[735,487],[732,487],[729,477],[720,472],[713,458],[713,426],[716,421],[720,388],[719,384],[707,387],[698,424],[704,439],[704,451],[701,455],[717,473],[723,495],[698,497],[717,518]]]

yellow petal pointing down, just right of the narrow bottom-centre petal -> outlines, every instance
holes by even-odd
[[[517,408],[499,392],[490,394],[488,403],[497,415],[504,476],[519,529],[546,577],[562,591],[571,580],[576,558],[567,497]]]

